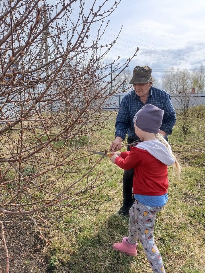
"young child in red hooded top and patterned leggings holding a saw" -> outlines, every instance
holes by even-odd
[[[141,242],[153,272],[164,273],[163,261],[154,241],[156,214],[167,203],[167,166],[175,164],[180,177],[180,165],[168,142],[158,134],[163,110],[146,104],[134,116],[135,133],[142,142],[127,152],[112,152],[112,163],[124,170],[134,168],[133,194],[136,199],[129,211],[129,236],[113,249],[130,256],[137,255],[137,241]]]

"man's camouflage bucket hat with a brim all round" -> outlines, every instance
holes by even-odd
[[[133,70],[132,79],[129,83],[149,83],[154,82],[151,76],[151,68],[149,66],[136,66]]]

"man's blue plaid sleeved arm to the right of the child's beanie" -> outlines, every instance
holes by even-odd
[[[176,122],[176,113],[172,105],[170,95],[168,93],[165,94],[163,110],[164,117],[162,120],[162,125],[160,127],[159,133],[161,133],[162,135],[171,135],[172,128],[174,127]]]

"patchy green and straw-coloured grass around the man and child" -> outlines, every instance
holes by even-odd
[[[114,139],[114,120],[94,138],[99,141],[93,149],[109,148]],[[175,126],[169,142],[191,147],[194,132],[184,136]],[[155,242],[167,273],[202,273],[205,272],[205,156],[191,150],[181,152],[185,149],[178,146],[172,148],[179,151],[176,155],[183,166],[181,182],[169,168],[169,201],[157,216]],[[89,215],[75,211],[47,229],[52,243],[44,251],[50,270],[54,273],[151,273],[140,243],[136,257],[112,250],[112,243],[128,235],[128,219],[117,214],[122,204],[123,171],[107,158],[93,175],[100,171],[101,179],[112,177],[94,200],[99,211]]]

